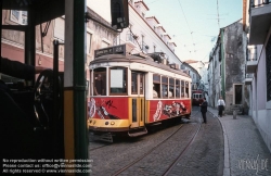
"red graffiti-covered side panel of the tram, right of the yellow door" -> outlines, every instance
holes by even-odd
[[[185,116],[191,112],[191,100],[152,100],[150,101],[149,123]]]

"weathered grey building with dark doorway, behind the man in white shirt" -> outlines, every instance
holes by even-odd
[[[229,114],[234,109],[242,114],[248,109],[249,96],[244,84],[246,41],[242,21],[220,28],[209,58],[209,104],[217,108],[217,101],[222,96],[225,100],[225,113]]]

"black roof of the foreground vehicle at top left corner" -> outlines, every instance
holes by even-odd
[[[35,12],[36,25],[65,14],[65,0],[2,0],[2,9]]]

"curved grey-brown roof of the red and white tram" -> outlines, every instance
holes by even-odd
[[[162,68],[165,71],[173,72],[173,73],[190,77],[190,75],[184,73],[182,70],[175,70],[175,68],[171,68],[169,65],[154,62],[154,60],[147,55],[138,56],[138,55],[130,55],[130,54],[126,54],[126,55],[125,54],[107,54],[107,55],[95,58],[93,61],[89,63],[89,65],[96,64],[96,63],[104,63],[104,62],[137,62],[137,63],[147,64],[151,66],[155,66],[157,68]]]

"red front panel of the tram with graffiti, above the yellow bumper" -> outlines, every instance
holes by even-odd
[[[128,98],[90,98],[88,102],[89,118],[128,120]]]

